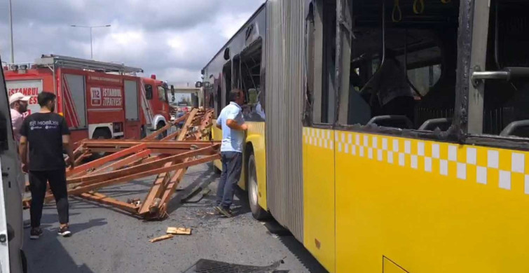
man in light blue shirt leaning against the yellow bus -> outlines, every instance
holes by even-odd
[[[231,203],[235,193],[235,185],[240,179],[242,171],[242,145],[245,142],[245,131],[248,129],[242,118],[240,106],[245,103],[242,90],[231,90],[230,104],[222,109],[217,118],[217,127],[222,130],[221,181],[217,187],[217,210],[226,217],[232,217]]]

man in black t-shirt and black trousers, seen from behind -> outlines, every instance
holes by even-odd
[[[32,193],[32,204],[29,208],[32,221],[30,239],[39,239],[42,235],[41,217],[46,183],[57,203],[59,213],[59,235],[69,237],[68,230],[68,192],[66,184],[66,164],[62,155],[63,149],[68,153],[68,163],[74,167],[74,155],[70,146],[70,132],[66,120],[55,110],[55,94],[41,92],[37,97],[41,111],[28,116],[20,129],[20,158],[22,169],[29,172],[29,188]],[[27,144],[29,143],[29,164],[27,162]]]

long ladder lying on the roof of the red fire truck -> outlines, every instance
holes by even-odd
[[[116,64],[113,62],[99,62],[91,59],[81,59],[76,57],[67,57],[61,55],[42,55],[35,60],[35,64],[49,68],[64,67],[69,69],[83,69],[89,71],[99,71],[104,73],[119,73],[121,75],[135,75],[142,73],[143,69]]]

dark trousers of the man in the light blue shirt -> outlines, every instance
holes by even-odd
[[[217,206],[229,209],[242,171],[242,153],[222,152],[222,174],[217,186]]]

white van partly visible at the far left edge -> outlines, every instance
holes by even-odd
[[[19,273],[27,272],[22,252],[22,193],[25,178],[13,139],[3,69],[0,77],[0,272]]]

